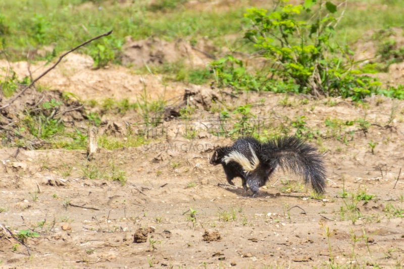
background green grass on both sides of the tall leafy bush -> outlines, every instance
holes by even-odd
[[[128,35],[134,39],[158,36],[190,41],[205,37],[219,46],[227,43],[224,35],[238,34],[242,38],[243,26],[247,23],[243,14],[249,2],[240,1],[228,9],[203,12],[194,10],[192,5],[182,5],[186,2],[161,0],[149,5],[143,0],[120,5],[110,1],[3,0],[0,2],[0,33],[12,60],[24,60],[27,50],[42,45],[54,44],[56,53],[60,53],[111,28],[114,33],[110,37],[95,41],[81,51],[94,53],[97,44],[119,49]],[[270,8],[270,5],[265,6]],[[338,10],[342,11],[343,6]],[[345,16],[337,26],[342,32],[336,38],[350,42],[370,29],[402,27],[403,12],[404,3],[398,0],[349,1]],[[119,53],[115,53],[115,57],[119,57]]]

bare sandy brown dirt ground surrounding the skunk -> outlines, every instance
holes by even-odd
[[[12,65],[18,75],[26,74],[26,63]],[[40,65],[31,68],[39,73]],[[198,88],[181,83],[167,86],[158,76],[144,78],[130,68],[93,70],[91,59],[74,54],[41,83],[75,93],[81,100],[113,96],[133,101],[143,89],[142,79],[148,81],[151,99],[162,93],[167,99],[182,96],[185,88]],[[208,86],[199,88],[210,92]],[[399,171],[404,164],[404,101],[375,96],[357,105],[339,98],[315,100],[265,92],[235,99],[214,92],[219,101],[196,106],[188,125],[166,121],[159,127],[163,131],[155,130],[156,135],[164,135],[152,142],[101,149],[91,160],[81,150],[0,148],[0,266],[402,266],[404,172],[399,175]],[[254,104],[255,120],[274,126],[285,116],[306,116],[307,126],[322,137],[319,144],[316,139],[310,143],[324,155],[324,197],[313,197],[310,187],[282,171],[256,198],[244,193],[240,180],[235,180],[237,188],[218,185],[226,183],[225,175],[221,167],[209,165],[209,156],[215,146],[231,141],[209,134],[217,127],[218,112],[212,107],[204,110],[204,105],[220,102]],[[105,118],[120,126],[136,126],[139,120],[133,111]],[[346,126],[338,133],[347,137],[341,142],[326,127],[326,119],[343,123],[366,119],[371,125]],[[189,125],[196,131],[192,139],[183,138]],[[263,136],[271,132],[260,131]],[[370,143],[375,144],[373,153]],[[123,186],[119,181],[83,176],[85,169],[102,171],[111,163],[126,173]],[[344,192],[347,197],[342,198]],[[374,197],[356,200],[361,194]],[[8,232],[24,230],[37,236],[27,236],[22,244]]]

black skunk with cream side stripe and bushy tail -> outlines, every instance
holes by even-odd
[[[210,163],[223,166],[231,185],[235,177],[240,177],[245,190],[248,184],[252,197],[277,167],[294,172],[304,178],[306,184],[311,182],[316,192],[324,192],[322,156],[316,148],[296,137],[280,137],[266,143],[252,137],[239,138],[232,146],[216,148]]]

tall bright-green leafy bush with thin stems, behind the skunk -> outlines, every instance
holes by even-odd
[[[252,26],[244,37],[275,64],[270,71],[283,81],[292,78],[299,92],[360,100],[380,83],[359,75],[349,58],[350,50],[330,42],[338,22],[336,12],[337,7],[329,1],[306,0],[304,5],[291,5],[278,0],[272,12],[247,10],[245,17]],[[301,20],[301,13],[310,19]]]

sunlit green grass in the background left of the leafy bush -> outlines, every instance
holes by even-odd
[[[240,7],[229,12],[201,13],[180,8],[162,13],[150,9],[148,1],[134,1],[131,5],[82,2],[2,1],[0,32],[11,59],[25,60],[26,50],[49,44],[54,44],[55,51],[60,53],[111,28],[114,33],[110,37],[95,41],[81,51],[90,54],[96,44],[117,48],[128,35],[134,39],[159,36],[167,40],[205,36],[223,45],[223,35],[240,30],[244,12]]]

